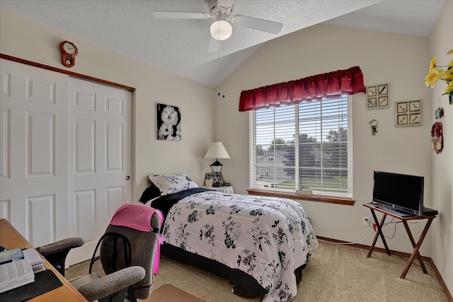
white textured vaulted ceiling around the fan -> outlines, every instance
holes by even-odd
[[[154,11],[208,12],[205,0],[0,0],[0,8],[215,87],[263,42],[317,23],[428,36],[445,0],[236,0],[233,15],[283,23],[278,35],[235,26],[207,52],[207,20],[157,19]],[[338,18],[337,18],[338,17]],[[219,73],[219,57],[220,69]]]

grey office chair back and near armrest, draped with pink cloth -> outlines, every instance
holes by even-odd
[[[144,204],[123,204],[113,215],[112,221],[93,252],[88,276],[70,280],[71,284],[88,301],[97,299],[100,302],[136,302],[137,298],[148,298],[152,292],[154,261],[159,260],[156,248],[159,245],[161,223],[162,216],[159,210]],[[96,256],[99,247],[99,256]],[[96,260],[101,260],[105,277],[99,278],[96,272],[92,272]],[[132,268],[133,272],[128,271]],[[136,281],[130,281],[127,285],[126,277],[134,277]],[[98,281],[101,279],[108,279],[105,281],[107,285]],[[116,284],[118,281],[123,281],[123,284]],[[113,286],[108,282],[115,282],[116,285]],[[109,289],[116,287],[116,291],[103,293],[104,296],[108,295],[105,298],[99,298],[98,292],[106,286]]]

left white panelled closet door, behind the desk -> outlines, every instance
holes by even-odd
[[[68,76],[0,59],[0,218],[33,245],[69,236]]]

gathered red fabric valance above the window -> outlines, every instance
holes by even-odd
[[[363,74],[359,66],[354,66],[328,74],[242,91],[239,111],[295,105],[304,101],[338,98],[341,95],[360,92],[365,92]]]

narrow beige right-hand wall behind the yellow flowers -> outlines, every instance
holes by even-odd
[[[453,1],[445,1],[439,19],[430,35],[430,57],[437,57],[437,64],[446,65],[453,60],[453,54],[446,52],[453,49]],[[439,81],[430,91],[433,110],[437,108],[439,97],[445,90],[445,82]],[[442,274],[450,293],[453,294],[453,105],[448,104],[447,95],[440,98],[440,107],[445,111],[442,119],[445,147],[442,153],[431,153],[432,164],[432,207],[440,215],[432,227],[432,259]],[[432,110],[432,112],[433,112]],[[430,115],[430,124],[434,124],[434,114]]]

